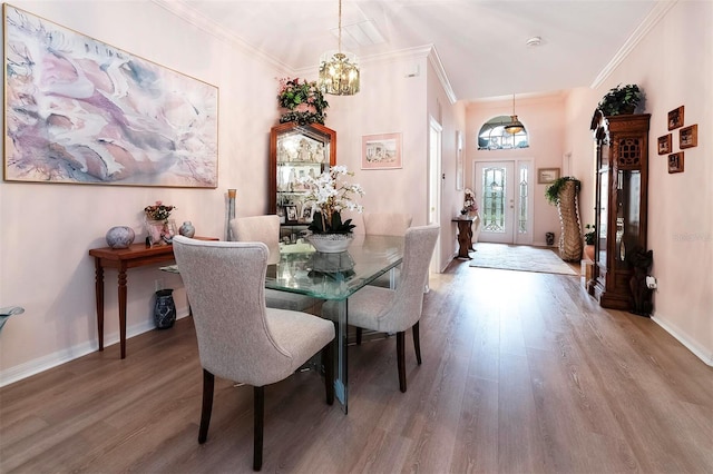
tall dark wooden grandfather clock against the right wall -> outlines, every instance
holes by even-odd
[[[603,307],[634,307],[627,260],[646,249],[649,113],[605,117],[596,130],[595,265],[588,292]]]

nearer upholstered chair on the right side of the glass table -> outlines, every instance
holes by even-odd
[[[401,279],[397,288],[367,285],[350,296],[348,302],[350,325],[379,333],[395,333],[401,392],[407,388],[404,340],[408,328],[412,329],[416,361],[421,365],[419,320],[423,308],[423,284],[428,278],[439,230],[437,224],[409,228],[406,231]],[[325,317],[335,319],[339,315],[336,302],[325,302],[322,313]]]

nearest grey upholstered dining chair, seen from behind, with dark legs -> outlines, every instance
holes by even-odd
[[[322,352],[326,403],[334,402],[334,324],[306,313],[265,306],[267,246],[263,243],[173,240],[193,308],[203,367],[198,443],[207,440],[215,376],[252,385],[253,468],[263,460],[264,387]]]

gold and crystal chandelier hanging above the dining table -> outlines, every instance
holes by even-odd
[[[320,57],[320,90],[333,96],[359,92],[359,61],[353,52],[342,51],[342,0],[339,0],[339,49]]]

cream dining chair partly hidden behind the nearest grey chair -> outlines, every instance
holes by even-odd
[[[267,265],[280,261],[280,216],[236,217],[231,220],[233,238],[237,241],[262,241],[270,250]],[[314,307],[315,298],[296,293],[265,289],[265,302],[268,308],[304,312]]]

